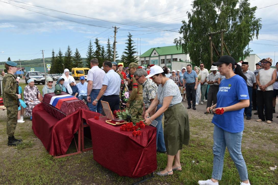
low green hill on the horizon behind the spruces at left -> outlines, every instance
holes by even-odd
[[[86,61],[85,58],[81,58],[83,66],[86,66]],[[14,61],[16,63],[18,63],[18,67],[19,66],[19,60],[18,61]],[[36,58],[33,60],[21,60],[21,67],[43,67],[43,59],[42,58]],[[5,62],[0,62],[0,65],[4,64]],[[51,63],[51,58],[44,58],[44,63],[46,64],[52,64]]]

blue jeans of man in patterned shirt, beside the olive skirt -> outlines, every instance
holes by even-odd
[[[162,107],[162,105],[158,104],[157,110],[155,112],[157,112],[158,109],[160,109],[161,107]],[[161,152],[165,152],[166,147],[165,147],[164,134],[163,134],[163,128],[162,128],[162,117],[163,117],[163,113],[155,119],[158,122],[157,126],[156,126],[156,128],[157,128],[157,150],[161,151]]]

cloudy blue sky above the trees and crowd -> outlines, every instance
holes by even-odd
[[[64,53],[68,45],[72,51],[78,48],[81,56],[86,57],[90,39],[94,42],[98,38],[104,46],[108,38],[113,43],[112,26],[115,25],[120,27],[117,33],[119,57],[126,46],[128,32],[133,35],[135,45],[138,42],[138,55],[152,47],[174,45],[181,20],[187,20],[186,12],[190,11],[191,3],[191,0],[0,0],[0,61],[6,61],[8,57],[13,61],[41,58],[42,49],[45,57],[50,57],[52,48],[55,52],[61,48]],[[250,43],[252,54],[274,60],[276,51],[277,61],[278,21],[275,14],[278,5],[274,5],[277,1],[250,0],[250,3],[257,8],[265,7],[256,11],[263,26],[259,39]]]

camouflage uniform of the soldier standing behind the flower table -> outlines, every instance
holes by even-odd
[[[143,86],[138,85],[134,76],[132,77],[132,92],[128,99],[130,103],[128,112],[130,112],[132,118],[142,119],[143,112]]]

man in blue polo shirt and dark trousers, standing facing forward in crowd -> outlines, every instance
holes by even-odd
[[[183,74],[183,90],[186,90],[186,98],[187,98],[187,109],[191,109],[191,96],[192,96],[192,108],[196,110],[196,89],[198,76],[195,71],[192,70],[190,64],[186,66],[186,72]]]

